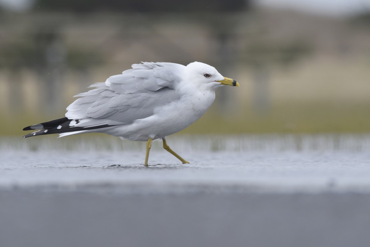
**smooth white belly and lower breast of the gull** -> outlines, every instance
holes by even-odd
[[[214,100],[214,92],[184,96],[178,101],[158,107],[150,117],[135,120],[128,125],[109,127],[104,133],[132,141],[147,141],[149,137],[153,140],[164,138],[198,120]]]

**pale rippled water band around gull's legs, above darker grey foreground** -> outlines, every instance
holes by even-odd
[[[0,139],[0,186],[110,190],[370,191],[370,135],[173,136],[181,164],[154,142],[109,136]]]

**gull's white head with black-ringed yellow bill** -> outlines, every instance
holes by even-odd
[[[239,83],[233,79],[223,77],[215,67],[205,63],[193,62],[186,66],[186,78],[199,87],[213,89],[217,87],[230,85],[239,86]]]

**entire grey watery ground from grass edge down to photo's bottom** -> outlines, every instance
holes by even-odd
[[[367,246],[370,135],[0,139],[0,246]]]

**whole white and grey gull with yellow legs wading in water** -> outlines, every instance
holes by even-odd
[[[109,77],[67,107],[65,117],[25,127],[37,130],[23,138],[45,134],[59,137],[82,133],[105,133],[132,141],[146,141],[145,165],[148,165],[152,140],[162,139],[163,148],[183,164],[189,163],[167,144],[166,136],[198,120],[215,100],[215,90],[237,86],[215,67],[193,62],[141,62]],[[39,129],[39,130],[38,130]]]

